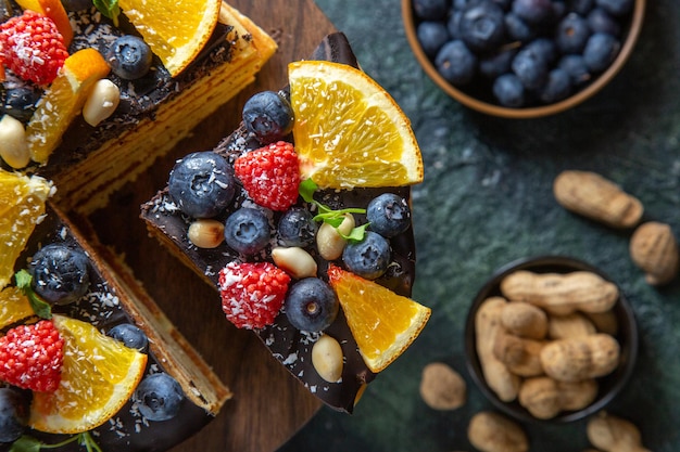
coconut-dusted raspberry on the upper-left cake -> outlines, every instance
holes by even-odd
[[[0,60],[24,80],[48,85],[68,57],[51,18],[26,10],[0,25]]]

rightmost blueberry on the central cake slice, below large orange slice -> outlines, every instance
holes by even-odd
[[[406,199],[394,193],[383,193],[370,199],[366,207],[370,229],[383,237],[393,237],[411,227],[411,209]]]

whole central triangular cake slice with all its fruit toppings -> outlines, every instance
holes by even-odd
[[[289,65],[289,87],[245,103],[234,133],[180,159],[141,214],[234,325],[345,412],[430,315],[410,298],[420,152],[356,66],[347,38],[328,36]]]

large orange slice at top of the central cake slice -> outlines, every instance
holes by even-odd
[[[322,189],[423,181],[408,118],[362,70],[323,61],[288,65],[293,137],[303,179]]]

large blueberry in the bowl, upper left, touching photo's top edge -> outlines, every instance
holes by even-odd
[[[496,48],[505,37],[504,13],[491,0],[470,2],[461,16],[461,39],[474,51]]]

